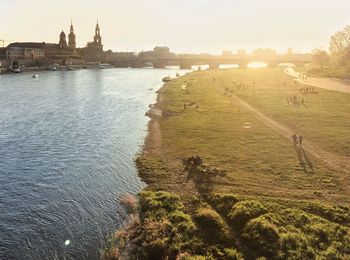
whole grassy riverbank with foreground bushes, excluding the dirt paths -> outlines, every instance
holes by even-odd
[[[129,220],[102,257],[349,258],[348,176],[237,102],[348,158],[350,95],[306,87],[281,69],[207,70],[165,84],[154,105],[162,117],[150,120],[136,159],[147,187],[122,199]]]

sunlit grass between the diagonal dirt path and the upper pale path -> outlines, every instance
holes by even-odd
[[[291,77],[278,69],[237,70],[219,72],[221,84],[230,85],[233,80],[250,83],[256,81],[254,90],[238,90],[235,94],[276,121],[303,133],[332,152],[350,156],[350,95],[315,88],[318,94],[301,95],[304,86],[295,84]],[[285,83],[285,84],[284,84]],[[288,105],[286,98],[296,95],[304,98],[305,106]]]

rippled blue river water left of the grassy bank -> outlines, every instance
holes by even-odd
[[[145,112],[175,73],[0,75],[0,259],[98,258],[123,221],[118,198],[144,186]]]

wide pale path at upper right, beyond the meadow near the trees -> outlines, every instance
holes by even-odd
[[[302,75],[302,73],[296,72],[292,68],[285,69],[284,72],[294,78],[299,78],[299,76]],[[328,90],[350,93],[350,84],[340,79],[308,77],[307,80],[301,80],[301,83],[317,88],[324,88]]]

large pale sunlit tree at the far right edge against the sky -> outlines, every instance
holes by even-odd
[[[331,36],[329,50],[332,61],[338,66],[349,65],[350,58],[350,26]]]

